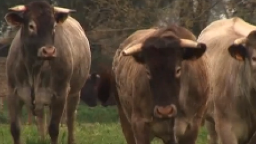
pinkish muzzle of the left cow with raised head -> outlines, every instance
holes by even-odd
[[[43,46],[38,50],[37,56],[43,59],[50,59],[55,58],[56,54],[55,46]]]

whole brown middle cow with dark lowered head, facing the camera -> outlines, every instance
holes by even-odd
[[[104,85],[114,91],[128,144],[154,137],[165,144],[195,143],[209,92],[207,46],[196,40],[188,29],[171,24],[138,30],[120,44],[113,77]],[[102,101],[109,97],[100,94]]]

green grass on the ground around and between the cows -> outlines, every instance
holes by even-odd
[[[25,125],[26,112],[23,110],[23,125],[22,125],[22,141],[26,144],[49,143],[49,137],[46,142],[40,142],[38,139],[37,128],[34,124]],[[123,133],[121,131],[120,122],[118,119],[117,109],[115,107],[95,107],[90,108],[84,104],[78,107],[78,115],[76,121],[75,139],[78,144],[108,144],[117,143],[124,144]],[[59,143],[66,143],[67,131],[66,127],[61,127],[59,133]],[[0,143],[11,144],[12,138],[9,132],[8,112],[5,108],[4,112],[0,113]],[[154,144],[161,143],[155,139]],[[202,128],[197,144],[207,143],[207,131]]]

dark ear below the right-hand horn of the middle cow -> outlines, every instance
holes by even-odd
[[[183,48],[183,59],[184,60],[195,60],[200,58],[206,52],[207,46],[204,43],[198,43],[197,47],[184,47]]]

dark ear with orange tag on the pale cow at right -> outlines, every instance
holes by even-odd
[[[228,47],[228,52],[237,61],[245,61],[245,57],[247,56],[246,47],[244,47],[242,44],[232,44],[230,47]]]

